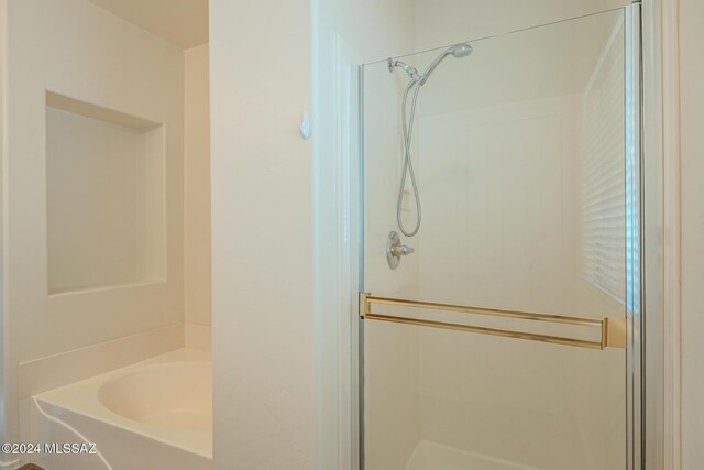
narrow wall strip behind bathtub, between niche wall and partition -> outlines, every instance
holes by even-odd
[[[208,45],[186,50],[184,102],[184,310],[210,325],[210,88]]]

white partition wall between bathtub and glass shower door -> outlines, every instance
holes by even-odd
[[[267,11],[277,12],[271,17],[260,7],[211,3],[213,351],[218,378],[215,452],[222,468],[228,468],[238,455],[239,464],[251,468],[312,466],[307,460],[314,458],[312,435],[290,437],[292,417],[277,404],[284,398],[287,403],[300,401],[295,405],[299,408],[298,425],[309,426],[307,429],[312,433],[312,408],[308,407],[312,406],[312,396],[307,390],[312,384],[306,381],[312,373],[314,363],[308,360],[312,361],[314,356],[308,341],[312,341],[314,332],[317,466],[345,468],[355,459],[351,453],[356,429],[339,419],[341,415],[343,419],[351,418],[350,389],[354,385],[346,384],[350,389],[345,389],[334,379],[350,373],[352,364],[345,361],[353,358],[349,350],[344,356],[339,347],[340,342],[349,345],[349,326],[355,321],[349,317],[350,300],[338,296],[345,288],[349,273],[338,271],[348,266],[338,264],[336,256],[339,237],[345,237],[338,231],[338,223],[344,218],[338,210],[345,196],[337,178],[338,165],[344,163],[333,156],[340,155],[338,152],[354,155],[354,150],[342,151],[338,145],[354,142],[355,121],[349,114],[340,118],[337,106],[342,95],[351,106],[348,112],[355,112],[358,64],[389,51],[399,54],[411,50],[413,4],[407,0],[312,4],[317,74],[312,117],[315,201],[310,193],[312,167],[307,166],[311,163],[306,160],[311,156],[311,149],[296,133],[299,113],[310,109],[312,66],[306,61],[306,44],[311,44],[306,29],[307,7],[299,7],[301,11],[289,12],[288,6],[272,10],[268,4]],[[233,29],[233,24],[242,26]],[[252,25],[257,26],[255,32],[251,31]],[[238,50],[237,44],[246,43],[249,35],[264,42],[253,51]],[[278,51],[276,59],[262,56],[264,48]],[[341,69],[346,75],[340,75]],[[337,79],[350,79],[352,89],[336,87]],[[338,124],[343,122],[350,127],[341,130]],[[301,173],[306,170],[309,172]],[[252,205],[253,200],[257,204]],[[315,331],[309,316],[311,298],[307,297],[314,286],[309,271],[312,240],[306,231],[312,227],[314,204]],[[292,349],[292,341],[300,349]],[[284,351],[280,358],[272,357],[275,349]],[[253,369],[246,359],[251,357],[264,359]],[[280,390],[293,380],[298,385],[280,396]],[[262,382],[268,384],[266,390]],[[235,393],[240,400],[226,411]],[[266,402],[273,402],[275,412],[263,417],[261,406]],[[404,411],[413,414],[413,408]],[[283,424],[275,423],[279,419]],[[271,444],[272,436],[280,436],[275,441],[282,445],[262,450],[257,439]],[[302,450],[289,458],[294,447],[300,446]]]

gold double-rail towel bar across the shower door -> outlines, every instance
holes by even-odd
[[[600,341],[590,341],[578,338],[540,335],[525,331],[513,331],[497,328],[476,327],[471,325],[451,324],[446,321],[425,320],[418,318],[402,317],[395,315],[375,314],[372,305],[397,305],[413,308],[428,308],[433,310],[458,311],[463,314],[487,315],[493,317],[519,318],[552,324],[566,324],[600,328],[602,338]],[[431,328],[452,329],[458,331],[479,332],[482,335],[503,336],[508,338],[528,339],[531,341],[550,342],[553,345],[574,346],[588,349],[626,348],[626,319],[582,318],[563,315],[534,314],[529,311],[504,310],[499,308],[471,307],[464,305],[438,304],[435,302],[403,300],[398,298],[374,297],[370,294],[360,294],[360,316],[363,319],[391,321],[406,325],[417,325]]]

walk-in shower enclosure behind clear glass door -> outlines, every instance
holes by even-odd
[[[459,40],[361,67],[363,468],[640,468],[639,6]]]

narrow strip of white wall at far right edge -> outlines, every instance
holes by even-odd
[[[704,3],[680,0],[682,468],[704,461]]]

